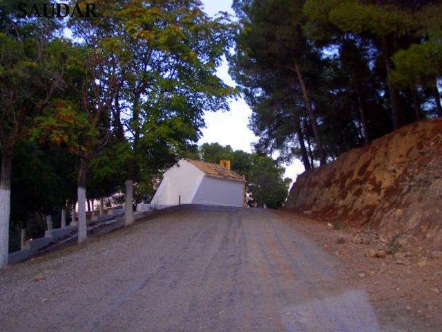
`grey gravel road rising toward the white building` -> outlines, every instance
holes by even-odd
[[[184,205],[10,266],[0,331],[379,331],[343,263],[281,215]]]

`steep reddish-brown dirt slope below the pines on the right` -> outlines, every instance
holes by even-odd
[[[416,122],[298,176],[285,208],[442,247],[442,118]]]

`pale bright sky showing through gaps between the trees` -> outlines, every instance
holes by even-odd
[[[209,16],[214,16],[218,12],[229,12],[234,15],[231,9],[231,0],[202,0],[204,12]],[[218,68],[217,75],[226,84],[235,86],[236,83],[229,75],[229,66],[227,61]],[[251,152],[251,143],[256,142],[258,137],[249,129],[249,117],[251,116],[251,109],[247,103],[239,98],[238,100],[230,100],[229,112],[210,112],[206,113],[204,120],[206,128],[202,129],[202,138],[198,145],[203,143],[218,142],[220,145],[230,145],[234,150],[243,150]],[[275,156],[273,156],[275,157]],[[285,176],[294,181],[298,174],[304,172],[304,166],[300,160],[294,160],[291,165],[286,165]]]

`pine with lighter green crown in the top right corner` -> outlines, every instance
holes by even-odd
[[[437,14],[429,15],[440,12],[439,7],[433,1],[307,0],[304,12],[309,17],[306,25],[309,37],[332,41],[329,31],[337,29],[343,36],[353,34],[370,40],[377,48],[385,68],[393,127],[398,129],[407,123],[408,116],[407,108],[403,107],[405,93],[390,79],[397,63],[393,61],[394,55],[410,44],[420,44],[429,30],[434,31],[434,26],[428,29],[427,22],[432,17],[433,22],[439,21],[436,25],[440,24],[440,15],[439,19],[435,19]],[[412,89],[416,89],[416,84],[414,81]]]

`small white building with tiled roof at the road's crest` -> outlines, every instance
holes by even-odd
[[[164,172],[151,204],[139,204],[137,210],[166,208],[179,204],[242,206],[244,178],[223,167],[204,161],[181,159]]]

